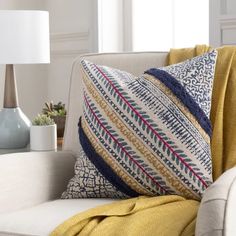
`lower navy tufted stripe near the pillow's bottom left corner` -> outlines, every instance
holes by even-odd
[[[79,122],[79,139],[80,144],[89,160],[96,166],[100,173],[119,191],[125,193],[130,197],[137,197],[140,194],[131,189],[118,175],[114,173],[111,167],[100,157],[100,155],[95,151],[83,128],[80,126]]]

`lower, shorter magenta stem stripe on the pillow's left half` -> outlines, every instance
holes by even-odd
[[[98,121],[98,123],[102,126],[102,128],[105,130],[105,132],[117,143],[117,145],[122,149],[122,151],[129,157],[129,159],[131,159],[141,170],[143,173],[145,173],[151,180],[152,182],[154,182],[159,188],[161,188],[165,193],[170,194],[167,190],[165,190],[152,176],[150,176],[141,165],[139,165],[137,163],[137,161],[135,161],[130,154],[125,150],[125,148],[119,143],[119,141],[109,132],[109,130],[106,129],[106,127],[102,124],[102,122],[99,120],[99,118],[97,117],[97,115],[95,114],[95,112],[93,111],[93,108],[90,106],[86,95],[84,94],[84,99],[86,104],[89,107],[89,110],[93,113],[94,117],[96,118],[96,120]]]

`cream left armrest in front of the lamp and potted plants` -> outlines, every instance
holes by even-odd
[[[27,152],[0,156],[0,213],[56,199],[74,174],[70,152]]]

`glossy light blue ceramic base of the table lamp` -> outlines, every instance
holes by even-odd
[[[0,148],[24,148],[30,140],[30,120],[19,107],[0,110]]]

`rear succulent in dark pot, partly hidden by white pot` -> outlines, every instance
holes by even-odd
[[[53,104],[53,102],[46,102],[43,108],[43,114],[51,117],[57,125],[57,137],[63,138],[66,122],[66,108],[65,104],[58,102]]]

